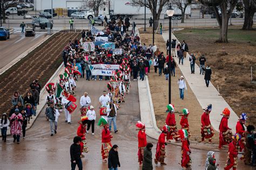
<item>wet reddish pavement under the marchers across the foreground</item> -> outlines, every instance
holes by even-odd
[[[80,96],[87,91],[92,100],[97,114],[95,135],[86,134],[87,146],[89,153],[82,158],[83,169],[107,169],[107,164],[102,162],[101,148],[101,128],[97,126],[99,119],[99,97],[102,91],[106,90],[107,81],[85,81],[79,79],[77,82],[76,98],[79,107]],[[45,120],[44,111],[38,115],[38,118],[30,130],[26,132],[26,138],[21,139],[21,144],[17,145],[12,142],[9,136],[6,143],[0,141],[0,169],[71,169],[69,149],[73,137],[76,135],[78,121],[80,118],[79,110],[72,113],[72,125],[65,123],[64,112],[60,113],[58,120],[57,134],[50,137],[50,125]],[[137,132],[136,122],[140,120],[138,86],[137,82],[131,82],[130,94],[126,95],[125,104],[120,105],[117,113],[117,134],[112,134],[112,145],[117,144],[119,149],[119,160],[121,167],[119,169],[141,169],[138,166],[137,158]],[[152,142],[154,147],[152,154],[156,152],[157,140],[147,138]],[[154,169],[180,169],[180,146],[167,145],[166,166],[156,166]],[[204,169],[207,151],[201,149],[192,149],[192,169]],[[241,157],[241,155],[239,155]],[[220,169],[226,164],[227,153],[215,153]],[[245,166],[239,160],[237,169],[254,169]]]

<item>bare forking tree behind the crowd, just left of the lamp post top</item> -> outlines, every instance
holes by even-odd
[[[155,21],[154,29],[157,29],[161,12],[163,11],[164,6],[168,5],[168,3],[169,3],[169,0],[147,0],[146,1],[146,8],[149,8],[152,15],[154,16],[154,21]],[[134,6],[145,6],[145,1],[131,0],[131,4]]]

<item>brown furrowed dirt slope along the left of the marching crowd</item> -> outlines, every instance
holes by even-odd
[[[12,107],[11,98],[14,92],[18,91],[24,97],[25,92],[30,89],[30,83],[36,78],[44,88],[46,82],[62,63],[61,52],[69,43],[69,38],[76,37],[78,33],[56,33],[0,76],[1,114],[8,112]]]

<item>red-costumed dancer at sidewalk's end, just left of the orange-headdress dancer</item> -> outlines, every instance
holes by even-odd
[[[208,105],[204,111],[205,112],[201,115],[201,142],[204,142],[205,139],[209,139],[209,144],[213,144],[212,137],[214,135],[214,131],[210,121],[212,105]]]

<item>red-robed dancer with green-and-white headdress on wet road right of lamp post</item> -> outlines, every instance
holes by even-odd
[[[188,132],[186,130],[178,131],[179,138],[181,140],[181,162],[182,168],[187,169],[191,167],[191,150],[190,141],[188,140]]]

